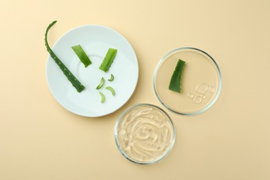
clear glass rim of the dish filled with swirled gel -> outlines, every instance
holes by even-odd
[[[120,122],[121,118],[123,118],[123,116],[127,113],[127,111],[129,111],[130,109],[133,109],[134,107],[139,107],[139,106],[150,106],[150,107],[155,107],[156,109],[161,110],[168,117],[170,125],[172,126],[172,131],[173,131],[172,143],[170,144],[170,147],[168,148],[168,151],[163,156],[161,156],[161,158],[157,159],[156,161],[143,163],[143,162],[134,161],[133,159],[129,159],[129,156],[127,156],[125,154],[125,152],[123,152],[123,150],[120,148],[120,145],[118,143],[117,129],[118,129],[118,125],[119,125],[119,122]],[[116,121],[116,125],[114,127],[114,140],[116,142],[116,146],[118,147],[118,150],[120,151],[120,154],[122,154],[125,157],[125,159],[127,159],[129,161],[132,161],[132,163],[137,163],[137,164],[141,164],[141,165],[158,163],[159,161],[163,160],[165,158],[165,156],[167,156],[170,153],[170,151],[172,150],[172,147],[174,146],[174,142],[175,142],[175,137],[176,137],[175,127],[174,127],[174,123],[172,122],[172,119],[170,118],[170,116],[163,109],[161,109],[161,107],[158,107],[156,105],[152,105],[152,104],[149,104],[149,103],[139,103],[139,104],[132,105],[131,107],[128,107],[127,109],[125,109],[125,111],[123,111],[123,113],[120,114],[118,120]]]

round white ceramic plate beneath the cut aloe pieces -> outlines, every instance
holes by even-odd
[[[48,36],[51,33],[53,28]],[[91,59],[92,64],[87,68],[71,48],[78,44]],[[109,48],[116,48],[118,52],[109,71],[105,73],[99,66]],[[72,113],[87,117],[105,116],[122,107],[132,96],[138,81],[138,61],[127,39],[115,30],[98,25],[80,26],[62,35],[52,50],[85,87],[84,91],[78,93],[51,55],[48,55],[48,87],[57,102]],[[111,74],[114,75],[114,80],[109,82]],[[97,90],[102,77],[106,80],[105,84]],[[114,88],[115,96],[105,89],[107,86]],[[105,94],[104,103],[100,102],[100,91]]]

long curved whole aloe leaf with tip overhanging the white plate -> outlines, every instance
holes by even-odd
[[[77,91],[80,93],[82,90],[85,89],[84,85],[82,85],[82,83],[77,78],[75,78],[75,76],[73,75],[73,73],[71,73],[71,71],[69,71],[69,69],[55,55],[55,53],[53,53],[53,51],[51,50],[50,46],[48,45],[48,39],[47,39],[48,30],[50,30],[50,28],[56,22],[57,21],[53,21],[51,24],[48,25],[48,28],[46,29],[46,33],[45,33],[45,46],[47,48],[48,53],[51,55],[51,57],[53,58],[53,60],[55,60],[55,63],[60,67],[60,69],[62,70],[62,72],[64,73],[64,75],[66,75],[66,78],[68,78],[68,80],[71,82],[71,84],[73,85],[73,87],[75,87],[75,89],[77,89]]]

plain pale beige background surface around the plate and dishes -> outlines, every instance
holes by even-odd
[[[0,3],[0,179],[270,179],[270,1],[3,1]],[[101,24],[123,34],[138,57],[127,104],[102,118],[66,111],[45,77],[51,45],[67,30]],[[222,93],[204,114],[168,111],[177,129],[160,163],[137,165],[114,142],[118,116],[152,89],[165,53],[193,46],[222,71]],[[165,109],[164,107],[162,107]],[[167,110],[166,110],[167,111]]]

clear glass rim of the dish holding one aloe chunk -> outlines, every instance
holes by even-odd
[[[206,55],[207,57],[210,58],[210,60],[212,60],[212,62],[215,64],[215,67],[217,68],[217,73],[219,75],[219,87],[218,87],[218,91],[215,95],[215,98],[203,109],[199,110],[199,111],[194,111],[192,113],[183,113],[181,111],[176,111],[174,109],[171,109],[170,107],[168,107],[168,105],[165,104],[165,102],[163,102],[161,100],[161,98],[159,97],[159,94],[156,91],[156,74],[159,70],[159,67],[161,66],[162,62],[165,60],[166,57],[168,57],[168,55],[171,55],[172,53],[176,52],[176,51],[181,51],[181,50],[193,50],[193,51],[199,51],[200,53],[203,53],[204,55]],[[161,60],[159,60],[159,63],[156,64],[156,68],[154,69],[154,75],[153,75],[153,88],[154,88],[154,93],[156,95],[156,98],[158,98],[159,102],[161,102],[161,104],[166,107],[167,109],[169,109],[170,111],[173,111],[176,114],[181,114],[181,115],[185,115],[185,116],[192,116],[192,115],[197,115],[197,114],[201,114],[205,111],[207,111],[210,107],[212,107],[214,105],[214,103],[217,101],[217,98],[219,97],[220,91],[222,90],[222,73],[219,69],[219,66],[217,65],[217,62],[215,62],[214,58],[211,57],[208,53],[206,53],[205,51],[202,51],[199,48],[193,48],[193,47],[182,47],[182,48],[175,48],[174,50],[170,51],[169,53],[166,53]]]

